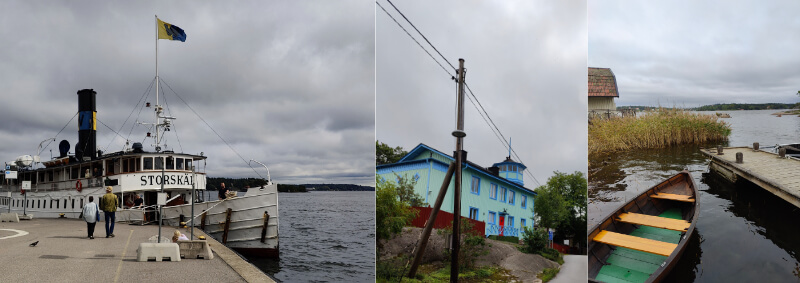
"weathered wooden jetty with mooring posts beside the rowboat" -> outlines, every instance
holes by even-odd
[[[711,158],[710,169],[726,179],[743,178],[800,207],[800,160],[750,147],[722,148],[723,154],[716,148],[700,151]],[[740,154],[741,162],[737,162]]]

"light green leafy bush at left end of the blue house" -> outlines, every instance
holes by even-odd
[[[375,176],[375,228],[378,242],[393,238],[416,217],[416,210],[401,201],[397,186],[393,182],[382,181]],[[380,246],[378,246],[380,248]]]

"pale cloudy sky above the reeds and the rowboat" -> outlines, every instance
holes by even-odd
[[[589,66],[617,105],[798,102],[800,2],[589,1]]]

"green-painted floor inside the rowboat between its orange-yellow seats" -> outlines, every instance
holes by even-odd
[[[668,209],[658,216],[683,219],[679,208]],[[649,226],[639,226],[630,235],[673,244],[677,244],[681,239],[680,231]],[[665,256],[616,247],[606,260],[608,265],[600,269],[595,280],[608,283],[645,282],[666,260]]]

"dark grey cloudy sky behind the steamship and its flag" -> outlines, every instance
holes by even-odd
[[[375,14],[364,0],[2,1],[0,160],[36,154],[65,125],[56,139],[74,150],[79,89],[97,91],[97,118],[117,131],[155,77],[156,14],[187,34],[159,40],[161,78],[245,159],[279,183],[374,183]],[[209,176],[255,176],[162,87],[178,117],[167,148],[204,152]],[[147,132],[128,134],[138,113],[120,131],[132,142]],[[99,147],[122,149],[125,138],[97,127]]]

